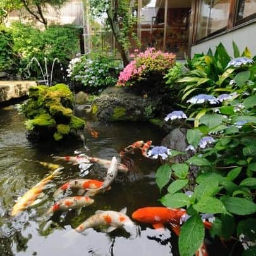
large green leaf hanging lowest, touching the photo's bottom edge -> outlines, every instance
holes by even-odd
[[[179,238],[181,256],[192,256],[204,241],[204,224],[200,216],[194,215],[186,221]]]

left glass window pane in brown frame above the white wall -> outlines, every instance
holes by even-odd
[[[202,0],[197,23],[197,40],[228,25],[231,0]]]

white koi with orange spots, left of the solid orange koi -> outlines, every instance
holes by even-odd
[[[116,228],[130,228],[134,226],[133,221],[126,216],[126,208],[116,212],[114,210],[97,210],[95,214],[80,224],[75,231],[82,233],[87,228],[107,226],[102,231],[109,233]]]

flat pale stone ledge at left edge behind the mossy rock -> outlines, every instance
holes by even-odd
[[[0,81],[0,102],[28,95],[28,89],[35,85],[35,81]]]

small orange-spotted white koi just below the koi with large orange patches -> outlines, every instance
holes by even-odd
[[[58,212],[59,210],[79,209],[78,214],[82,207],[86,207],[94,203],[94,199],[90,197],[65,197],[52,205],[48,213]]]

